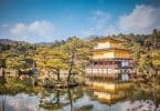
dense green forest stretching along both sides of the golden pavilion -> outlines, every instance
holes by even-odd
[[[151,34],[118,34],[111,38],[125,39],[124,47],[131,50],[137,74],[152,77],[158,74],[160,68],[160,30],[153,30]],[[84,73],[85,67],[92,59],[92,50],[95,40],[107,38],[90,36],[85,39],[70,37],[67,40],[53,41],[52,43],[28,43],[0,40],[0,68],[17,69],[21,74],[32,74],[32,69],[47,73],[52,71],[61,81],[60,71],[67,71],[67,81],[72,74]]]

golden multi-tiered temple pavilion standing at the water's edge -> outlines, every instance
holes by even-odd
[[[93,60],[85,69],[86,75],[118,78],[121,73],[129,73],[132,68],[131,51],[124,48],[124,42],[122,39],[111,37],[96,40]]]

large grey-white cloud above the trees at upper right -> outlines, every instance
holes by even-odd
[[[160,28],[160,8],[138,4],[119,18],[119,31],[125,33],[150,33],[154,28]]]

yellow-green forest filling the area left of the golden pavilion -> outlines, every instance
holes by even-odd
[[[1,69],[17,69],[21,74],[33,74],[32,69],[39,72],[54,72],[60,81],[60,71],[68,72],[67,81],[72,73],[83,73],[89,60],[92,44],[89,41],[71,37],[66,41],[47,43],[28,43],[21,41],[1,40],[0,67]],[[3,73],[3,70],[1,70]]]

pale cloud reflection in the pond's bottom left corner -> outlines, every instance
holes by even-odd
[[[32,99],[35,99],[35,97],[30,97],[24,93],[17,94],[15,97],[1,95],[0,111],[36,111],[38,101],[32,101]]]

